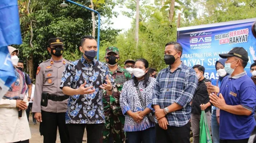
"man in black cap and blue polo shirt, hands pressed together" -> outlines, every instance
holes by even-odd
[[[229,74],[222,80],[219,97],[210,94],[210,102],[220,109],[220,143],[247,143],[256,125],[253,117],[256,88],[244,70],[248,53],[235,47],[219,56],[227,59],[225,71]]]

